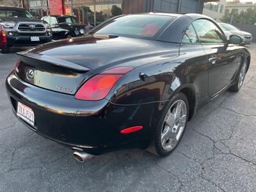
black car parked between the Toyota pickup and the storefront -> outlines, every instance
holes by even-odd
[[[86,29],[90,31],[93,28],[93,26],[88,24],[79,23],[76,17],[70,15],[45,16],[42,20],[51,27],[54,40],[81,36],[86,33]]]

